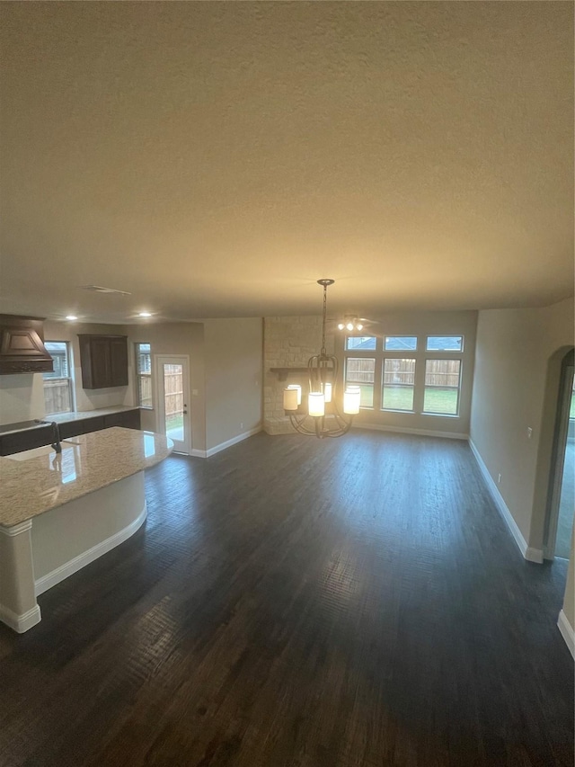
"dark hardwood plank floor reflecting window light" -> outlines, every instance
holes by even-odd
[[[0,627],[3,767],[573,764],[564,564],[464,442],[259,434],[146,487],[145,529]]]

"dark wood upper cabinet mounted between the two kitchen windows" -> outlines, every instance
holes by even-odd
[[[79,334],[83,388],[128,386],[126,335]]]

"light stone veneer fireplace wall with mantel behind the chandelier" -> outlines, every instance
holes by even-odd
[[[295,433],[284,414],[284,388],[301,384],[307,391],[307,375],[289,375],[285,381],[270,368],[301,368],[322,346],[322,317],[265,317],[263,321],[263,428],[268,434]],[[333,353],[333,335],[326,338]]]

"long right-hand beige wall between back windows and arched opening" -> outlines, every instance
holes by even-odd
[[[573,299],[479,313],[470,437],[496,486],[501,475],[500,495],[532,548],[543,547],[546,493],[536,490],[556,409],[557,392],[553,415],[545,407],[549,361],[572,346]]]

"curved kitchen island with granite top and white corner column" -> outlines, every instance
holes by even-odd
[[[173,450],[162,434],[112,427],[0,457],[0,620],[40,621],[38,594],[101,557],[146,520],[144,469]]]

